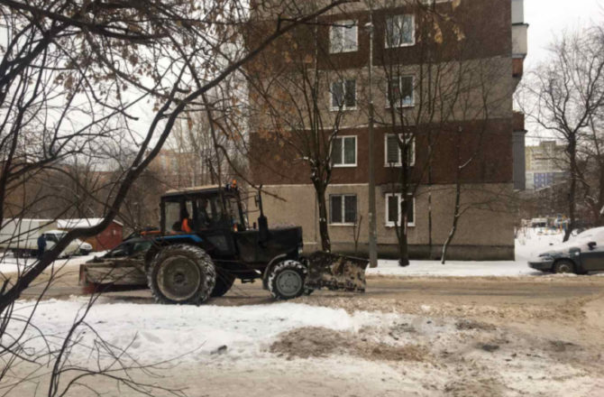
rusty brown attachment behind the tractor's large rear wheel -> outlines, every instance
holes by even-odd
[[[114,258],[96,260],[79,266],[79,284],[146,286],[147,276],[142,258]]]

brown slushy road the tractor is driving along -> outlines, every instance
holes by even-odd
[[[61,270],[48,286],[46,274],[27,291],[24,299],[33,299],[47,289],[45,298],[67,298],[71,295],[85,295],[78,286],[78,267]],[[47,288],[48,287],[48,288]],[[493,302],[508,304],[548,304],[599,296],[604,294],[602,276],[525,276],[525,277],[385,277],[368,278],[367,291],[354,294],[356,299],[396,299],[418,303],[454,300],[458,303]],[[344,297],[345,292],[316,291],[313,297]],[[111,300],[127,300],[152,303],[148,290],[107,291]],[[222,298],[215,298],[216,305],[244,305],[271,303],[268,291],[263,291],[261,282],[236,282],[231,291]]]

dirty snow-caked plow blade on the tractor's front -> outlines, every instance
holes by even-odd
[[[369,260],[316,252],[310,254],[308,260],[308,274],[305,285],[307,288],[319,290],[343,290],[351,292],[364,292],[365,269]]]

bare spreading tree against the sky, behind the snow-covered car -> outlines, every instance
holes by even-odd
[[[551,58],[539,65],[526,81],[520,106],[530,120],[555,134],[566,146],[563,161],[570,174],[566,241],[576,227],[581,187],[592,211],[598,213],[602,204],[598,184],[590,186],[581,170],[583,148],[590,152],[594,167],[599,167],[596,125],[604,106],[602,30],[592,26],[566,32],[554,41],[550,50]]]

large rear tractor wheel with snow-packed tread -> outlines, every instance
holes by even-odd
[[[169,245],[151,261],[147,282],[158,303],[199,305],[214,290],[216,270],[203,249],[195,245]]]

